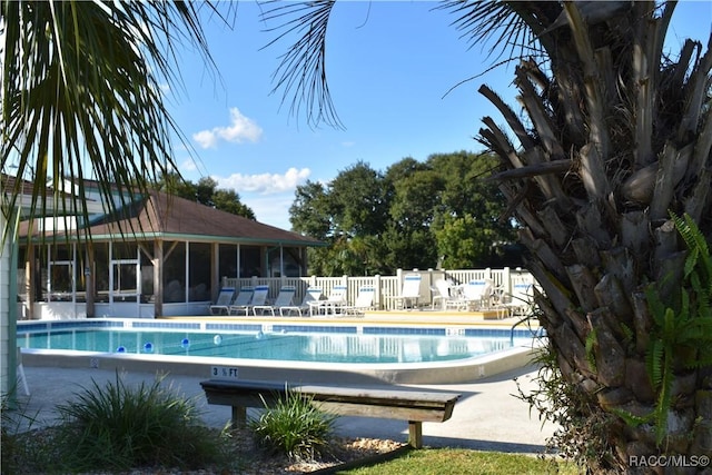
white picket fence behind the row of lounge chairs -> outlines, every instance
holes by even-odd
[[[369,285],[376,289],[375,305],[378,309],[389,309],[389,305],[394,299],[388,298],[400,295],[403,288],[404,276],[406,274],[416,273],[421,275],[421,295],[419,305],[431,305],[435,293],[434,285],[438,279],[449,279],[455,284],[466,284],[471,280],[491,279],[494,287],[504,295],[512,293],[512,288],[520,283],[535,284],[534,277],[524,269],[463,269],[463,270],[403,270],[398,269],[395,276],[369,276],[369,277],[251,277],[251,278],[222,278],[221,287],[254,287],[257,285],[268,285],[268,297],[274,299],[279,293],[281,286],[291,285],[297,288],[295,303],[301,301],[304,294],[308,287],[322,288],[325,296],[332,293],[335,286],[346,286],[347,300],[349,305],[354,305],[358,289],[362,286]]]

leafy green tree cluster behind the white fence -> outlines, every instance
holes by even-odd
[[[359,161],[324,185],[297,187],[293,229],[329,243],[312,249],[310,273],[390,274],[397,268],[521,265],[507,255],[515,222],[501,220],[504,196],[486,178],[486,154],[404,158],[384,172]]]

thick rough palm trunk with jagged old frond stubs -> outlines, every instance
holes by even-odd
[[[672,299],[686,256],[669,212],[688,212],[712,236],[712,53],[688,42],[680,62],[664,62],[672,10],[654,17],[651,7],[636,2],[619,22],[589,26],[565,3],[570,28],[543,41],[556,44],[546,51],[551,75],[533,60],[516,70],[528,129],[481,88],[518,141],[484,119],[478,139],[502,159],[501,189],[531,250],[540,318],[560,370],[594,403],[592,415],[613,420],[617,463],[600,469],[630,469],[643,455],[712,455],[709,366],[675,363],[662,443],[660,427],[645,419],[661,389],[646,366],[656,323],[644,287],[655,283]],[[635,417],[643,423],[632,424]]]

